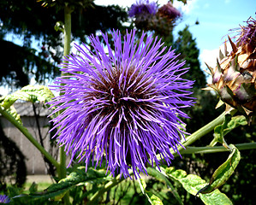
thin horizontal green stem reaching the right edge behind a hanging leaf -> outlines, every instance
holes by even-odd
[[[248,143],[248,144],[235,144],[235,147],[239,150],[246,149],[256,149],[256,143]],[[187,149],[182,149],[181,154],[199,154],[199,153],[216,153],[216,152],[224,152],[229,151],[229,149],[224,148],[223,146],[215,146],[215,147],[187,147]]]

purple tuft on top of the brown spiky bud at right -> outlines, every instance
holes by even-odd
[[[237,39],[241,44],[250,44],[256,46],[256,20],[250,17],[247,21],[247,26],[241,26],[240,38]]]

